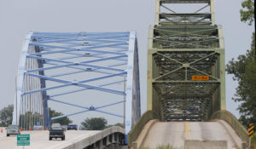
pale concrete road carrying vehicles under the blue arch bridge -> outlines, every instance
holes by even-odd
[[[25,146],[25,149],[57,149],[63,146],[73,144],[78,140],[82,140],[90,135],[95,135],[101,131],[90,131],[90,130],[67,130],[66,140],[49,140],[49,131],[23,131],[21,134],[30,134],[31,146]],[[0,149],[22,149],[22,146],[16,146],[17,137],[16,135],[6,136],[5,129],[3,133],[0,132]]]

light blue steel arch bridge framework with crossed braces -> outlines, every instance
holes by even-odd
[[[78,74],[85,78],[68,78]],[[55,85],[48,85],[50,83],[46,81]],[[113,88],[117,83],[123,83],[124,89]],[[71,86],[76,89],[62,90]],[[120,98],[103,106],[84,106],[84,103],[75,104],[72,100],[55,99],[85,90],[96,90],[99,94],[107,92],[120,95]],[[49,100],[83,110],[49,117]],[[102,110],[120,103],[125,104],[125,116]],[[51,120],[91,111],[125,117],[125,134],[140,117],[136,32],[28,33],[20,54],[13,123],[22,125],[29,120],[32,122],[24,126],[31,127],[40,121],[48,127]],[[35,113],[38,113],[38,119],[33,116]]]

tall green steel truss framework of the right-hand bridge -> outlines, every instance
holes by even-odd
[[[175,4],[200,8],[177,13]],[[204,121],[225,109],[224,38],[214,14],[213,0],[156,0],[148,33],[148,110],[161,120]]]

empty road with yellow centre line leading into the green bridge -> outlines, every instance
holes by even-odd
[[[184,140],[227,140],[228,149],[241,147],[241,139],[222,120],[217,122],[157,122],[149,130],[143,146],[170,145],[183,148]]]

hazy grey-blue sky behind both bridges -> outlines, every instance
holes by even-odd
[[[146,111],[148,26],[154,24],[154,0],[0,0],[0,109],[15,100],[15,76],[27,32],[136,31],[139,50],[142,112]],[[225,62],[250,48],[253,26],[240,20],[241,0],[215,0],[216,23],[224,28]],[[231,98],[237,83],[226,75],[226,107],[236,117]],[[61,106],[56,107],[63,113]],[[73,116],[80,123],[86,114]],[[102,115],[102,117],[105,117]],[[107,117],[109,123],[122,122]]]

